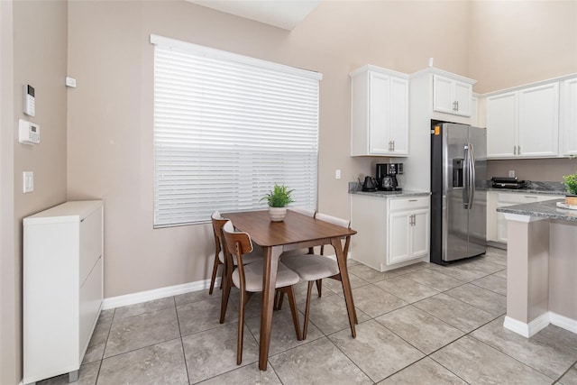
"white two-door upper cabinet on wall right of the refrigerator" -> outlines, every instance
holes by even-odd
[[[487,156],[550,158],[558,153],[559,82],[487,97]]]

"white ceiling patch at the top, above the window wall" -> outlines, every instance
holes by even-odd
[[[187,0],[226,14],[291,31],[321,0]]]

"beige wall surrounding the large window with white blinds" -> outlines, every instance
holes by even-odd
[[[208,225],[152,229],[151,33],[321,72],[318,208],[348,217],[347,182],[375,161],[349,156],[348,73],[367,62],[411,72],[430,56],[463,73],[467,15],[459,2],[324,2],[287,32],[179,1],[70,2],[69,198],[105,199],[105,297],[211,268]],[[423,28],[431,17],[455,22]]]

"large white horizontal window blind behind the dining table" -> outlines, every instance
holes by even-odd
[[[316,208],[322,76],[151,35],[154,227],[265,208],[275,183]]]

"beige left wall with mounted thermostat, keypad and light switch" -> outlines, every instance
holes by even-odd
[[[4,2],[3,2],[4,3]],[[10,315],[8,322],[14,324],[15,341],[2,341],[2,379],[4,383],[17,383],[22,379],[22,219],[24,216],[55,206],[66,200],[66,76],[67,58],[67,15],[68,5],[64,1],[14,1],[12,22],[14,23],[14,81],[13,110],[9,112],[10,119],[5,129],[12,131],[8,135],[14,146],[13,170],[14,179],[3,188],[14,188],[14,252],[12,255],[2,254],[2,281],[13,282],[13,301],[2,301],[3,320],[5,311]],[[4,18],[3,14],[3,18]],[[4,27],[4,20],[3,20]],[[4,48],[4,45],[3,45]],[[29,83],[36,91],[36,116],[25,117],[22,111],[23,84]],[[3,87],[4,89],[4,87]],[[4,110],[3,103],[3,113]],[[41,142],[27,146],[17,142],[17,120],[30,120],[41,127]],[[12,138],[10,138],[12,137]],[[4,147],[3,135],[3,147]],[[4,167],[4,162],[3,166]],[[23,171],[34,172],[34,191],[23,194]],[[4,211],[3,193],[3,218]],[[3,235],[4,236],[4,235]],[[5,295],[3,287],[3,296]],[[8,289],[10,293],[11,289]],[[6,309],[5,307],[12,307]],[[4,324],[3,324],[4,325]],[[3,329],[4,331],[4,329]],[[12,368],[6,370],[5,364],[12,363]]]

